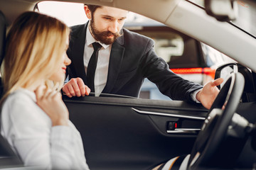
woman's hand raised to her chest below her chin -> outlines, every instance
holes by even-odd
[[[59,91],[39,86],[36,91],[36,103],[46,112],[55,125],[68,125],[69,113]]]

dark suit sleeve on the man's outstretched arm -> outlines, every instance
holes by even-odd
[[[192,101],[193,91],[203,86],[179,77],[169,65],[154,52],[154,41],[149,39],[140,64],[142,74],[158,87],[162,94],[173,100]]]

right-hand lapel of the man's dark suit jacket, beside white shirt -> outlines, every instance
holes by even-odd
[[[124,44],[124,36],[118,38],[113,44],[110,52],[110,64],[107,74],[107,84],[103,89],[102,93],[110,94],[114,84],[117,80],[119,70],[122,65],[122,59],[124,57],[125,48],[122,46]]]

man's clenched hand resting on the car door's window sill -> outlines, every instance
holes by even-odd
[[[68,97],[73,96],[88,96],[90,94],[90,88],[84,84],[81,78],[73,78],[63,86],[63,92]]]

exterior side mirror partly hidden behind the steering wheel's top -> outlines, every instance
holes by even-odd
[[[230,77],[231,73],[237,73],[238,72],[238,65],[237,63],[228,63],[228,64],[223,64],[220,67],[218,67],[215,71],[215,77],[214,79],[218,79],[218,78],[223,78],[228,79],[228,77]],[[218,87],[218,89],[221,88],[221,86],[223,86],[224,82],[222,84],[220,84]]]

